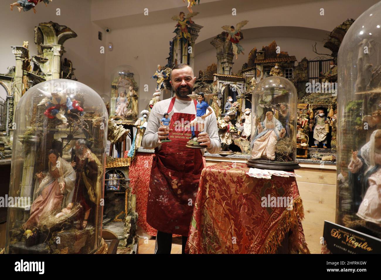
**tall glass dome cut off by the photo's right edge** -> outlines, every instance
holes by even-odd
[[[381,238],[381,2],[338,53],[336,223]]]

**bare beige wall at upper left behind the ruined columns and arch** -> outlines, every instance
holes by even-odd
[[[37,14],[33,11],[19,13],[16,7],[10,11],[9,5],[3,2],[6,1],[2,1],[0,10],[0,73],[16,64],[10,46],[21,46],[23,41],[29,41],[30,55],[37,54],[34,27],[40,22],[53,21],[70,27],[78,35],[64,43],[66,53],[63,54],[72,61],[78,81],[99,94],[104,93],[106,55],[99,52],[104,40],[98,40],[98,30],[103,30],[90,20],[91,0],[54,0],[47,7],[39,3]],[[61,9],[60,16],[56,15],[56,8]]]

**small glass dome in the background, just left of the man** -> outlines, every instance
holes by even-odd
[[[110,117],[135,123],[140,117],[138,99],[138,72],[128,65],[116,67],[111,77]]]

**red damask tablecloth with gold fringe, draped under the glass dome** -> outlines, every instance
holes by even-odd
[[[276,253],[287,233],[290,253],[309,253],[295,178],[258,179],[245,174],[248,170],[245,163],[228,162],[204,168],[190,226],[189,253]],[[262,198],[268,195],[289,197],[290,202],[292,197],[292,207],[262,207]]]

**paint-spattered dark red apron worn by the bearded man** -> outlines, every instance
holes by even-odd
[[[176,98],[172,98],[168,113]],[[197,101],[194,102],[195,106]],[[169,138],[160,150],[155,149],[149,181],[147,223],[162,232],[187,236],[191,223],[193,205],[196,202],[201,171],[203,169],[200,149],[185,147],[192,135],[189,123],[195,114],[174,113]],[[176,121],[184,125],[177,129]]]

